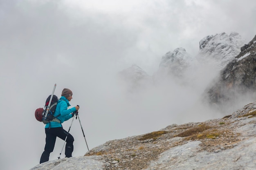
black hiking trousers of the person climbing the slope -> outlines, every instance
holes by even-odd
[[[65,147],[65,155],[66,157],[72,157],[72,152],[74,149],[73,142],[74,138],[70,133],[67,133],[66,130],[64,130],[62,127],[60,128],[45,128],[45,134],[46,134],[46,144],[45,144],[45,151],[43,152],[40,163],[49,161],[50,153],[54,149],[56,137],[61,138],[62,140],[65,140],[66,136],[66,147]],[[68,134],[68,135],[67,135]]]

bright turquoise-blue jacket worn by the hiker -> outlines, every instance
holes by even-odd
[[[56,110],[54,113],[54,117],[58,116],[59,114],[61,114],[60,116],[57,117],[57,119],[59,119],[61,121],[61,123],[58,123],[56,121],[51,121],[50,123],[47,123],[45,125],[45,128],[49,128],[49,124],[50,128],[58,128],[58,127],[62,127],[62,123],[68,119],[70,119],[72,117],[72,114],[74,111],[76,111],[76,108],[70,108],[67,109],[67,107],[70,106],[70,103],[68,102],[68,100],[66,99],[66,97],[61,96],[61,98],[58,100],[58,104],[56,106]]]

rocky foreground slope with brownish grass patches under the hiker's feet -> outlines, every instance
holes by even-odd
[[[203,113],[202,113],[203,114]],[[254,170],[256,102],[231,115],[108,141],[31,170]]]

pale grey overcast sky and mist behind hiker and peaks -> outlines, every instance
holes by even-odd
[[[45,132],[34,110],[43,107],[55,83],[58,97],[63,88],[73,91],[70,104],[81,107],[89,148],[216,117],[177,115],[193,107],[189,88],[127,96],[115,76],[132,64],[152,75],[165,53],[183,47],[194,56],[207,35],[237,32],[249,42],[255,14],[255,0],[0,0],[1,169],[28,170],[39,163]],[[73,156],[84,155],[78,120],[70,133]],[[50,160],[62,146],[57,139]]]

